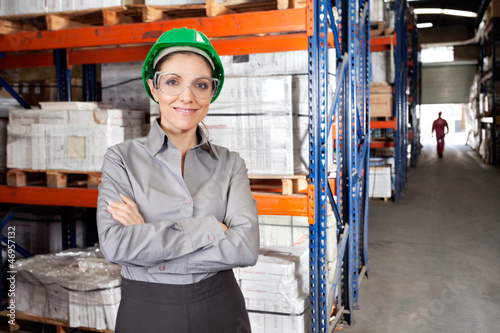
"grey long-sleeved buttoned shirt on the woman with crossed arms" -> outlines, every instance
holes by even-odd
[[[212,144],[185,156],[158,122],[145,138],[108,148],[97,205],[99,245],[123,277],[168,284],[199,282],[221,270],[254,265],[259,249],[257,205],[243,159]],[[144,224],[122,225],[110,201],[132,199]],[[227,225],[223,231],[219,222]]]

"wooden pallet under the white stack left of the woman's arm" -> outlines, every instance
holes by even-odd
[[[46,186],[50,188],[86,187],[98,188],[100,172],[67,170],[7,170],[7,186]]]

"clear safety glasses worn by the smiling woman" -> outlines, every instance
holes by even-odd
[[[212,98],[217,93],[219,80],[193,73],[155,73],[155,88],[169,96],[180,95],[186,87],[196,98]]]

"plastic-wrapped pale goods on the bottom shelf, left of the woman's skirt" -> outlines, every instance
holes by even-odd
[[[98,249],[18,260],[15,270],[16,310],[68,321],[70,327],[114,330],[120,272]]]

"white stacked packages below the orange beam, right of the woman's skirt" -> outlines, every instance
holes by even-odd
[[[293,246],[260,249],[257,264],[240,268],[252,332],[307,332],[309,251]]]

